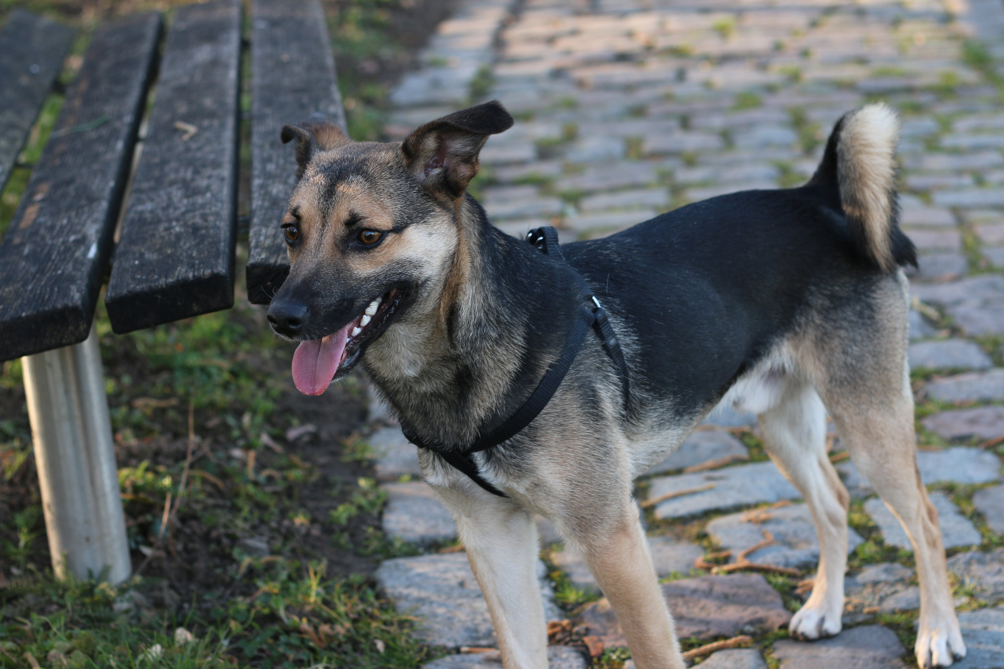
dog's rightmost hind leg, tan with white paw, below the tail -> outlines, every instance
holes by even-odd
[[[900,281],[899,289],[891,282],[876,285],[870,299],[834,318],[806,363],[814,366],[817,388],[851,460],[914,547],[921,588],[917,662],[947,667],[965,656],[966,646],[952,604],[938,510],[917,468],[902,274]]]

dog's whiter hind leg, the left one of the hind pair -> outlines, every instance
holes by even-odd
[[[760,413],[771,460],[802,493],[819,537],[819,567],[812,595],[791,619],[791,635],[818,639],[840,631],[843,572],[847,566],[849,496],[826,454],[826,413],[812,386],[784,377],[774,406]]]

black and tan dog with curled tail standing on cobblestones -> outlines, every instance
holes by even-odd
[[[362,361],[416,441],[462,451],[517,412],[559,358],[582,309],[576,272],[601,300],[629,397],[590,336],[536,419],[470,456],[473,477],[420,450],[505,667],[547,666],[534,513],[585,556],[636,665],[685,666],[633,481],[723,399],[758,415],[816,524],[818,572],[792,636],[840,631],[848,495],[826,454],[828,411],[914,547],[920,666],[963,657],[938,511],[915,460],[902,268],[916,259],[898,225],[895,114],[872,104],[844,116],[800,188],[691,204],[564,245],[564,259],[493,227],[466,192],[488,136],[512,123],[491,101],[400,145],[351,142],[323,122],[285,127],[299,166],[282,222],[292,267],[268,310],[277,333],[300,342],[302,392],[323,393]]]

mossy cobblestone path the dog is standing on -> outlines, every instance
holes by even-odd
[[[903,224],[921,251],[910,348],[918,461],[963,612],[970,654],[957,666],[1004,667],[1004,4],[469,0],[440,26],[425,62],[395,91],[389,132],[501,99],[517,123],[488,142],[477,194],[504,230],[552,224],[565,240],[722,193],[800,184],[842,113],[869,99],[900,109]],[[450,515],[421,482],[414,447],[379,408],[374,420],[385,530],[426,551],[385,563],[383,587],[423,617],[417,634],[428,643],[493,646],[464,555],[442,551],[456,538]],[[909,543],[838,439],[832,459],[853,497],[838,637],[800,643],[777,632],[805,597],[799,578],[695,568],[714,550],[735,556],[765,531],[774,541],[749,560],[811,577],[818,558],[807,510],[766,461],[755,419],[723,408],[705,427],[638,488],[685,646],[755,638],[702,666],[915,666]],[[626,655],[609,607],[582,561],[540,527],[548,617],[596,637],[598,666],[618,666]],[[581,648],[553,646],[551,666],[587,666]],[[494,653],[428,665],[498,666]]]

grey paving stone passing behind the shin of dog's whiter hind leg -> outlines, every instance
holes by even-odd
[[[751,562],[796,569],[815,567],[819,562],[819,540],[806,504],[723,515],[709,522],[707,530],[723,549],[732,551],[730,562],[735,562],[741,550],[762,541],[764,530],[774,536],[774,542],[747,555]],[[862,539],[853,529],[848,531],[850,553]]]

